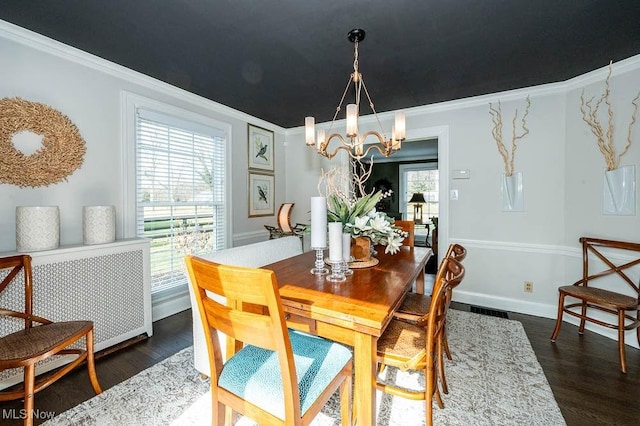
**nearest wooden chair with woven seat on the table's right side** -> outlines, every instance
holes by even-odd
[[[452,291],[464,277],[464,267],[456,259],[445,258],[442,265],[446,272],[440,274],[434,284],[426,324],[410,324],[393,319],[378,339],[379,371],[389,366],[402,371],[421,371],[425,377],[425,389],[408,390],[380,380],[376,383],[377,388],[389,395],[424,400],[427,425],[433,424],[434,397],[438,406],[444,408],[438,388],[438,365],[442,362],[442,339]]]

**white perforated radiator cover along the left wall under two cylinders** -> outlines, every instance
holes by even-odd
[[[0,257],[15,254],[19,253],[0,253]],[[144,333],[153,334],[149,240],[134,238],[98,245],[61,246],[29,254],[35,315],[51,321],[93,321],[96,351]],[[23,282],[21,274],[0,293],[0,306],[22,308]],[[2,319],[0,335],[16,331],[21,325]],[[84,344],[81,343],[79,346]],[[64,362],[64,357],[57,357],[42,363],[38,372]],[[0,389],[21,381],[21,370],[0,372]]]

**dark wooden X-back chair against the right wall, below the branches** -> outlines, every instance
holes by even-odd
[[[582,278],[573,285],[558,288],[558,318],[551,341],[555,343],[558,338],[565,313],[580,319],[580,334],[584,333],[586,321],[614,329],[618,332],[620,370],[626,373],[625,331],[635,329],[640,344],[640,282],[636,284],[628,275],[632,268],[640,265],[640,243],[582,237],[580,244]],[[620,287],[615,287],[618,284]],[[625,288],[628,294],[622,293]],[[567,296],[574,300],[565,304]],[[594,310],[616,319],[591,316]]]

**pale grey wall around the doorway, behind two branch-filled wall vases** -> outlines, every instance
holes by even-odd
[[[459,200],[449,201],[441,211],[440,224],[448,224],[448,239],[440,245],[461,242],[469,250],[467,274],[457,300],[555,317],[557,287],[572,283],[581,274],[580,236],[640,241],[637,214],[602,214],[604,162],[580,115],[582,87],[588,85],[587,94],[598,95],[606,74],[604,67],[568,82],[407,111],[407,129],[448,129],[449,164],[441,171],[441,184],[457,189]],[[639,81],[640,56],[614,64],[611,101],[619,150],[631,118],[631,99],[640,91]],[[503,136],[509,148],[514,110],[518,108],[522,116],[527,96],[531,99],[530,133],[519,142],[515,157],[516,171],[524,174],[525,208],[503,212],[500,179],[504,168],[491,134],[489,102],[502,103]],[[391,115],[381,118],[390,128]],[[368,122],[367,118],[363,121]],[[316,193],[319,167],[327,165],[304,146],[303,138],[302,128],[287,131],[287,176],[297,177],[287,181],[287,198],[308,205],[309,197]],[[622,164],[638,167],[640,123],[633,130],[633,140]],[[450,171],[456,169],[469,169],[471,178],[451,179]],[[303,220],[300,214],[301,210],[294,212],[294,219]],[[524,281],[534,282],[533,293],[523,291]]]

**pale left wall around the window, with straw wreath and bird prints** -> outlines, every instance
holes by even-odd
[[[212,74],[213,75],[213,74]],[[116,206],[117,238],[123,229],[122,95],[134,93],[231,125],[233,244],[266,239],[263,224],[248,218],[247,124],[275,132],[276,202],[284,202],[284,129],[143,76],[61,43],[0,21],[0,97],[21,97],[57,109],[78,127],[87,151],[81,168],[46,187],[0,183],[0,252],[15,249],[15,207],[58,205],[61,244],[82,243],[82,206]]]

